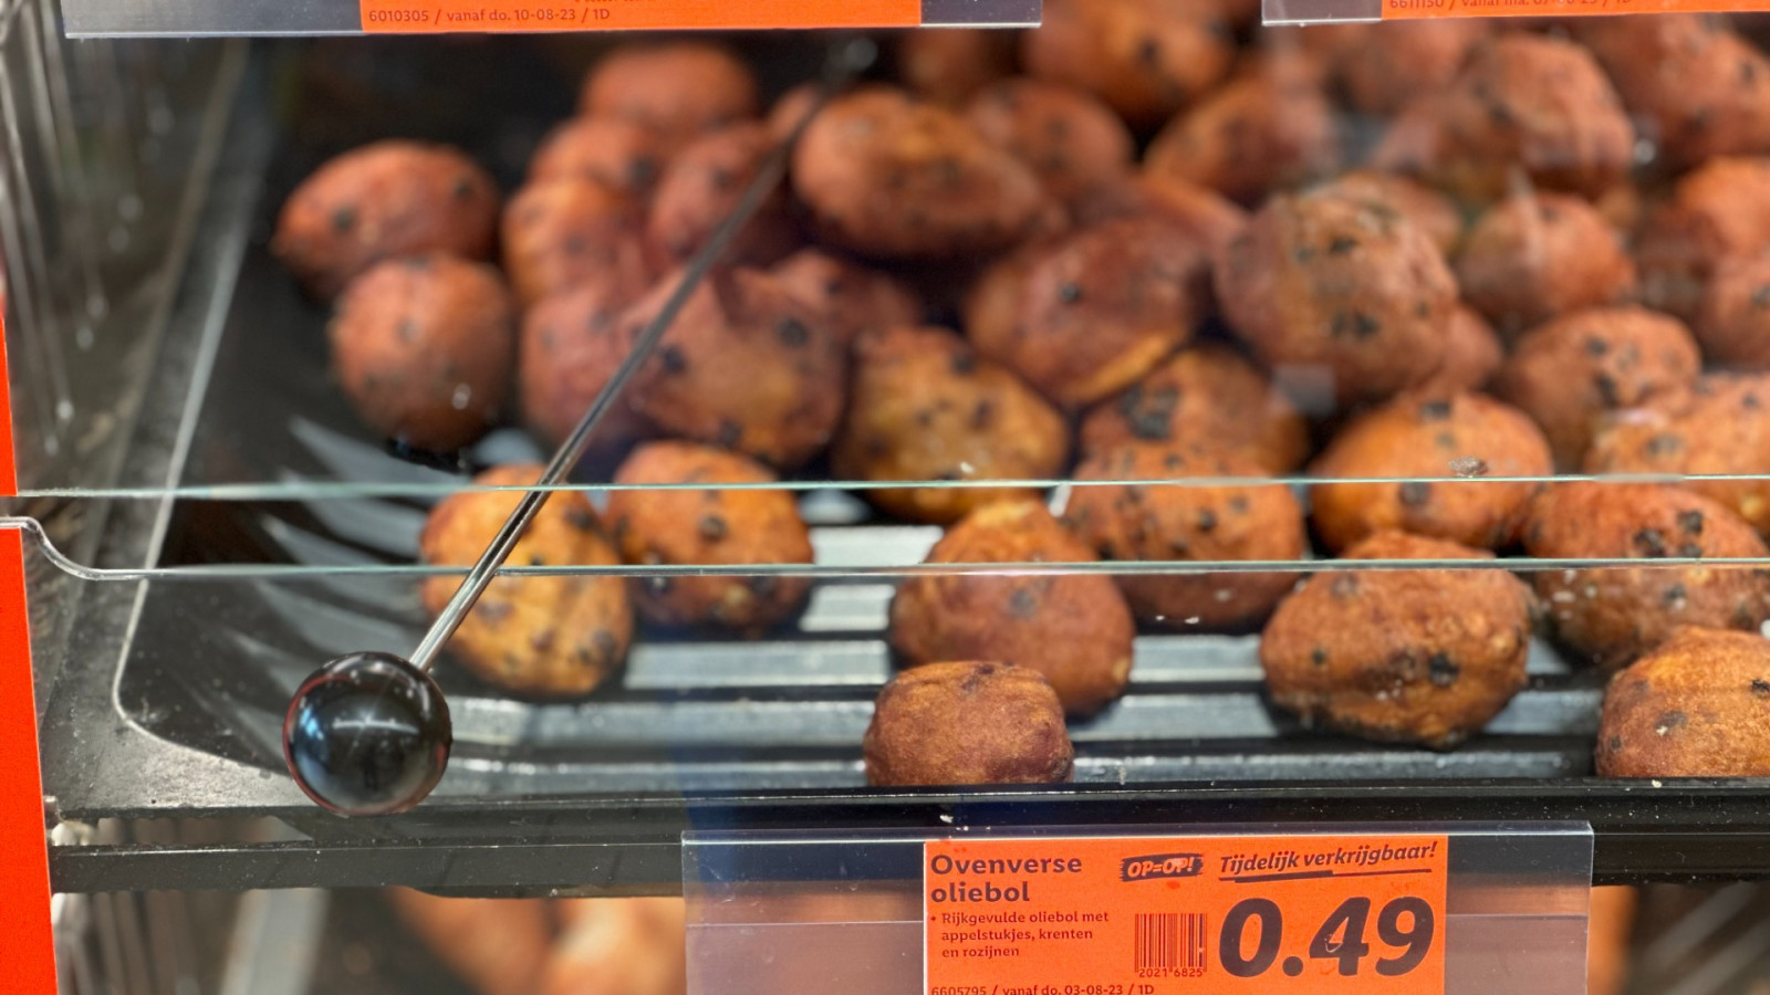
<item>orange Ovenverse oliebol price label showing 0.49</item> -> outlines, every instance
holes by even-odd
[[[936,839],[924,995],[1444,995],[1444,836]]]

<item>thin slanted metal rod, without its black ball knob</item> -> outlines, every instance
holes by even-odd
[[[719,228],[713,230],[713,235],[704,246],[701,246],[701,251],[697,251],[689,262],[689,269],[676,283],[674,292],[671,292],[669,299],[664,303],[664,310],[660,310],[657,317],[651,319],[651,324],[639,333],[639,338],[634,340],[634,347],[627,354],[627,359],[614,372],[614,375],[609,377],[609,382],[604,384],[602,391],[596,393],[596,400],[589,405],[589,411],[584,413],[584,418],[579,420],[577,427],[572,428],[572,434],[559,444],[559,450],[547,464],[547,469],[542,471],[542,478],[536,482],[536,487],[552,487],[559,483],[565,480],[566,473],[570,473],[572,467],[584,459],[584,450],[589,448],[591,432],[595,432],[602,416],[614,404],[614,398],[620,397],[621,388],[627,386],[627,381],[630,381],[634,374],[639,372],[639,366],[651,356],[651,351],[657,349],[658,340],[662,340],[664,333],[669,331],[671,322],[676,320],[683,305],[689,303],[689,297],[694,296],[701,280],[706,278],[706,274],[713,269],[713,264],[719,262],[719,258],[726,253],[726,248],[731,246],[731,241],[740,230],[743,230],[743,225],[756,216],[763,202],[766,202],[773,189],[781,186],[781,181],[786,179],[788,156],[791,154],[793,145],[798,143],[798,136],[805,131],[812,115],[823,110],[823,104],[828,103],[830,96],[860,74],[874,57],[876,50],[866,41],[853,41],[835,48],[818,99],[814,99],[804,115],[800,115],[793,131],[779,145],[775,145],[773,152],[768,154],[761,170],[756,172],[756,179],[750,181],[743,197],[738,198],[736,207],[729,216],[726,216]],[[480,561],[467,572],[467,579],[455,590],[455,597],[450,598],[442,613],[437,614],[437,620],[430,623],[430,630],[425,632],[423,641],[418,643],[418,650],[414,650],[411,657],[414,667],[428,669],[430,664],[435,662],[437,653],[442,652],[442,644],[455,636],[457,629],[460,629],[467,613],[473,611],[480,595],[485,593],[485,588],[497,575],[499,567],[503,567],[504,559],[510,558],[510,551],[517,547],[517,540],[522,538],[522,529],[535,521],[535,515],[540,513],[542,505],[545,505],[550,496],[552,492],[549,490],[529,490],[522,496],[522,501],[517,503],[517,510],[510,513],[508,521],[504,521],[504,528],[501,528],[497,536],[492,538],[492,544],[485,547],[485,552],[480,554]]]

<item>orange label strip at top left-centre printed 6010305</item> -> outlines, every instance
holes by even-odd
[[[906,28],[922,0],[359,0],[370,34]]]

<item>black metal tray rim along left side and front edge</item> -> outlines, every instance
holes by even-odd
[[[237,67],[239,69],[239,67]],[[242,69],[241,69],[242,71]],[[239,85],[267,85],[242,76]],[[219,94],[205,197],[193,212],[189,257],[177,267],[159,329],[158,374],[120,450],[126,482],[175,480],[188,418],[214,356],[250,225],[271,126]],[[227,135],[227,140],[221,140]],[[212,166],[212,168],[211,168]],[[170,501],[94,512],[94,563],[158,556]],[[1204,784],[1175,788],[701,793],[634,798],[524,798],[480,806],[439,798],[389,820],[340,821],[315,811],[283,777],[188,749],[131,722],[115,699],[133,637],[138,584],[62,584],[64,618],[90,625],[39,634],[55,673],[42,752],[51,811],[67,821],[198,820],[204,843],[51,846],[62,892],[412,885],[474,894],[664,894],[680,889],[689,829],[929,829],[965,825],[1156,825],[1574,820],[1597,832],[1600,883],[1770,876],[1770,791],[1752,783],[1481,781],[1382,784]],[[280,820],[299,837],[260,839]]]

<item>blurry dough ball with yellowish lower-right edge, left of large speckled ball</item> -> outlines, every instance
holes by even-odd
[[[966,335],[1067,409],[1110,397],[1193,336],[1205,246],[1161,220],[1117,220],[1035,255],[975,294]],[[1014,280],[1014,276],[1020,276]],[[986,280],[989,280],[986,276]]]

